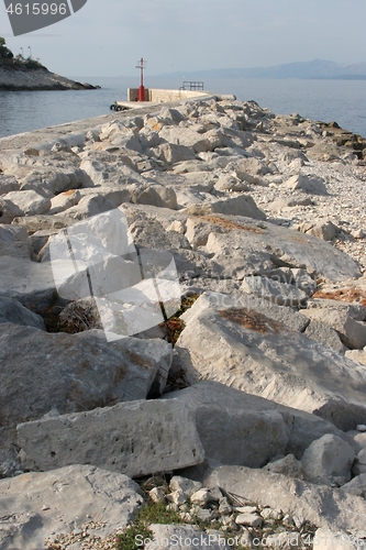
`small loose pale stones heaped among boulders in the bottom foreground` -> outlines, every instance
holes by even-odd
[[[147,491],[152,485],[153,488]],[[225,493],[218,486],[208,490],[202,487],[200,482],[178,475],[173,476],[167,483],[166,477],[157,475],[143,482],[142,487],[151,503],[164,503],[167,510],[177,514],[176,517],[180,522],[174,526],[176,532],[182,529],[186,540],[196,537],[209,547],[224,550],[230,547],[237,548],[240,544],[252,548],[266,542],[269,547],[277,543],[280,548],[296,546],[303,549],[313,544],[317,528],[303,518],[284,514],[269,506],[257,505]],[[55,549],[57,544],[67,548],[76,542],[80,542],[82,549],[113,548],[115,539],[98,537],[98,530],[103,527],[106,526],[89,522],[69,535],[56,535],[47,543],[49,548]],[[152,524],[149,530],[154,534],[156,543],[163,542],[164,538],[174,540],[174,532],[169,532],[170,529],[165,525]],[[118,534],[115,538],[118,540]],[[146,548],[149,548],[147,541]]]

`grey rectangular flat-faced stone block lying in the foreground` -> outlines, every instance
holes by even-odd
[[[16,429],[27,470],[93,464],[135,477],[204,459],[189,410],[176,399],[120,403],[21,424]]]

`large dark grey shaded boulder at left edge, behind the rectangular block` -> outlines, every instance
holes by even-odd
[[[45,333],[0,324],[1,416],[7,425],[58,413],[88,410],[147,396],[170,344],[126,338],[107,342],[100,330]],[[14,362],[16,350],[16,362]]]

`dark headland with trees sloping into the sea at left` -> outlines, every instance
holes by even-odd
[[[0,36],[0,90],[86,90],[96,89],[51,73],[40,62],[21,55],[14,57]]]

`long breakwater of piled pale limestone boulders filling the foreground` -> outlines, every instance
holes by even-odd
[[[0,140],[1,549],[144,499],[192,548],[365,543],[364,151],[214,99]]]

